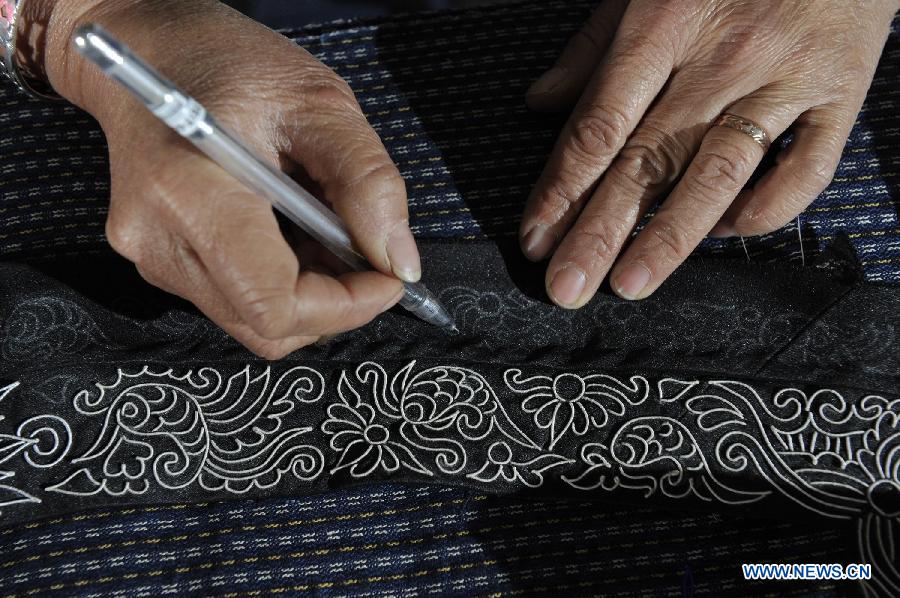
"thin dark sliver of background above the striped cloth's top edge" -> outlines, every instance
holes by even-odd
[[[508,0],[224,0],[225,4],[276,29],[335,19],[461,8],[502,1]]]

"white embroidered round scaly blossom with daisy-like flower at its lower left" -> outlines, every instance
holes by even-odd
[[[356,390],[347,372],[341,374],[342,402],[328,408],[322,424],[322,431],[332,437],[331,448],[341,454],[332,472],[349,467],[351,476],[364,477],[379,466],[393,472],[403,465],[427,476],[435,470],[457,474],[473,452],[468,444],[495,430],[521,447],[538,450],[481,374],[452,366],[414,374],[415,363],[390,381],[379,364],[363,363],[353,378],[368,387],[365,395]]]

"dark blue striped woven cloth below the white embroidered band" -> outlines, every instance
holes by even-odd
[[[0,531],[0,595],[843,595],[842,582],[744,582],[740,564],[854,562],[852,532],[379,486]]]

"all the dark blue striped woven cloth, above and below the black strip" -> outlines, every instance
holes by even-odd
[[[347,78],[408,181],[420,237],[515,234],[564,120],[523,93],[591,2],[546,1],[289,32]],[[846,233],[871,280],[900,282],[895,23],[834,184],[802,216],[810,256]],[[0,87],[0,258],[106,252],[103,136],[78,110]],[[748,239],[800,259],[797,230]],[[744,258],[739,241],[700,254]],[[741,562],[853,562],[856,530],[373,486],[302,500],[95,512],[0,530],[0,595],[845,595],[748,584]]]

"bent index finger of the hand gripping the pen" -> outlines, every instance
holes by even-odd
[[[301,272],[272,208],[217,165],[192,155],[191,172],[164,216],[200,258],[238,315],[267,339],[343,332],[389,309],[403,292],[396,278],[357,272],[332,278]],[[174,199],[193,196],[194,201]]]

